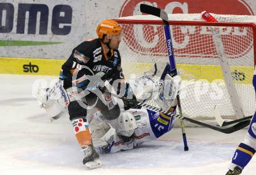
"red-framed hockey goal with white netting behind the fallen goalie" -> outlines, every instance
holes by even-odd
[[[254,115],[256,16],[212,16],[219,22],[205,22],[201,14],[168,15],[177,72],[183,80],[183,115],[213,119],[215,106],[224,119]],[[115,20],[122,26],[119,51],[126,80],[158,60],[168,61],[161,19],[137,15]],[[157,106],[154,100],[148,103]]]

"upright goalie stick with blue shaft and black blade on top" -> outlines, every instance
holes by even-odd
[[[173,55],[172,38],[170,35],[170,27],[169,27],[167,13],[162,9],[155,8],[154,6],[145,5],[145,4],[140,5],[140,11],[142,13],[154,15],[154,16],[160,17],[162,19],[163,28],[165,30],[165,39],[166,39],[166,45],[167,45],[169,63],[170,63],[170,70],[166,70],[166,72],[163,74],[170,74],[170,76],[172,76],[172,77],[176,76],[177,69],[176,69],[176,64],[175,64],[175,58]],[[161,78],[164,79],[164,77],[161,77]],[[178,108],[179,108],[180,114],[182,115],[182,106],[180,105],[179,95],[177,95],[177,103],[178,103]],[[180,127],[182,128],[184,151],[189,151],[189,147],[187,146],[187,137],[186,137],[186,131],[185,131],[185,125],[184,125],[183,119],[180,119]]]

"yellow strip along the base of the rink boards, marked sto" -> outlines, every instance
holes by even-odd
[[[27,59],[27,58],[0,58],[1,74],[29,74],[58,76],[63,59]],[[139,74],[151,69],[152,63],[122,62],[122,67],[129,80],[131,74]],[[177,69],[183,80],[223,80],[221,66],[219,65],[188,65],[177,64]],[[234,83],[252,84],[253,66],[230,66]]]

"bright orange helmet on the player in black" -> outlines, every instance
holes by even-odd
[[[122,27],[118,25],[114,20],[104,20],[98,24],[97,35],[99,39],[102,39],[103,35],[119,35],[121,34]]]

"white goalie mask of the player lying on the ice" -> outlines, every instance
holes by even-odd
[[[129,112],[121,112],[118,117],[118,127],[116,130],[117,134],[130,137],[133,135],[134,130],[138,127],[136,119]]]

